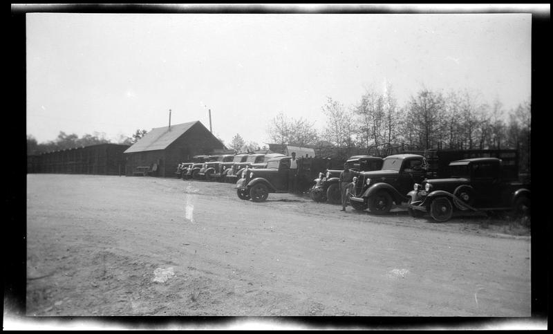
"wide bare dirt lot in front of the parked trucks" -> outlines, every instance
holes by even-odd
[[[27,180],[28,316],[530,316],[517,223],[253,203],[177,178]]]

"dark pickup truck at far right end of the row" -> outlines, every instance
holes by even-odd
[[[506,173],[498,158],[471,158],[449,163],[450,177],[415,183],[409,192],[409,213],[429,213],[448,221],[456,211],[511,210],[514,218],[530,216],[530,184],[518,172]]]

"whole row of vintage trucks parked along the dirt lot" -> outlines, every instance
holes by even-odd
[[[355,210],[386,214],[393,205],[407,206],[413,217],[429,214],[447,221],[456,211],[508,211],[514,218],[530,216],[530,183],[518,176],[516,164],[492,157],[497,151],[456,151],[421,154],[351,156],[347,162],[356,171],[349,203]],[[471,158],[454,157],[469,156]],[[476,157],[475,157],[476,156]],[[270,193],[288,192],[290,156],[283,154],[238,154],[196,156],[193,163],[179,165],[180,178],[236,183],[238,198],[265,201]],[[516,161],[516,156],[509,160]],[[339,174],[330,160],[300,159],[297,184],[317,202],[339,203]],[[441,166],[441,167],[440,167]],[[301,182],[306,180],[306,182]]]

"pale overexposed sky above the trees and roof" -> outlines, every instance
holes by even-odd
[[[530,14],[28,13],[27,133],[115,140],[200,120],[229,145],[270,142],[279,112],[315,121],[393,86],[469,89],[506,109],[531,93]]]

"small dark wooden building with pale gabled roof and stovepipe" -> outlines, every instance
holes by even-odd
[[[124,151],[126,175],[148,169],[153,176],[174,176],[179,163],[225,149],[200,121],[154,128]]]

